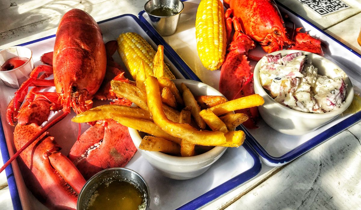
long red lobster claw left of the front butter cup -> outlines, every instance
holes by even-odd
[[[17,125],[14,140],[17,149],[42,128],[35,123]],[[76,209],[77,198],[85,179],[74,164],[60,152],[60,147],[47,132],[22,153],[19,167],[29,189],[50,209]],[[25,156],[24,156],[25,155]],[[44,197],[44,195],[46,195]]]

